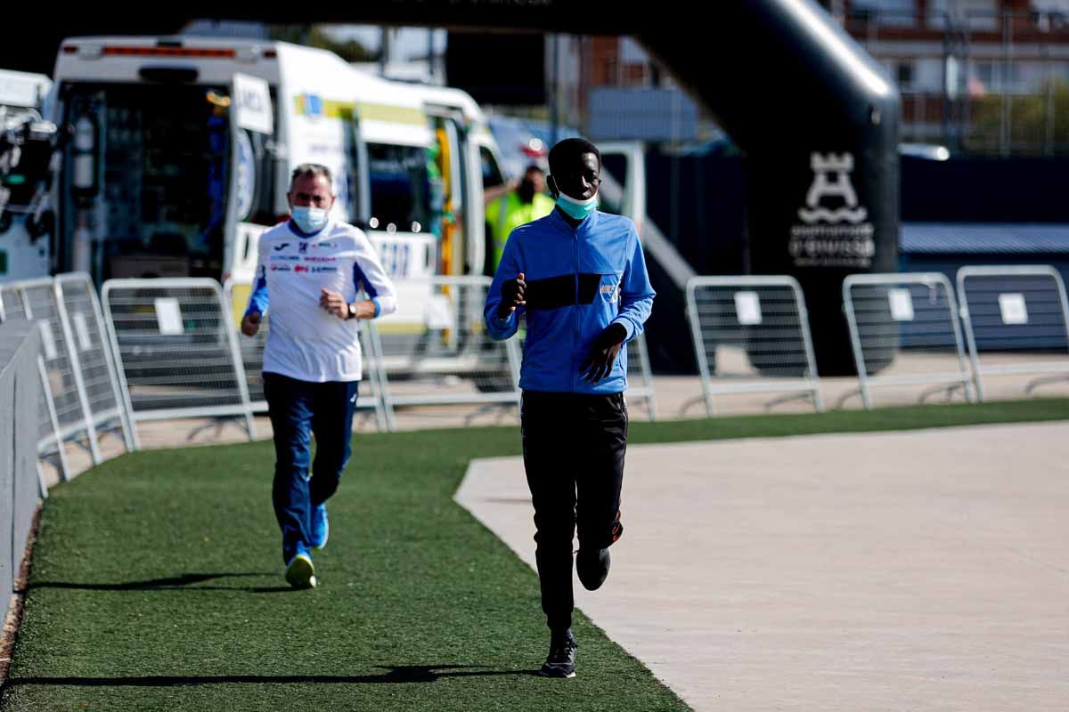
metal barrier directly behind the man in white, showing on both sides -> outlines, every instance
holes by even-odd
[[[230,304],[237,329],[237,344],[245,368],[246,383],[252,412],[266,413],[267,399],[263,390],[264,348],[267,346],[267,334],[270,332],[270,311],[260,322],[260,331],[255,336],[241,334],[242,318],[248,305],[252,285],[244,281],[228,280],[223,285],[227,303]],[[357,396],[356,410],[373,410],[379,430],[393,430],[393,411],[388,408],[384,394],[386,374],[383,371],[382,346],[378,343],[378,332],[371,321],[361,320],[358,325],[361,360],[363,363],[363,380]]]

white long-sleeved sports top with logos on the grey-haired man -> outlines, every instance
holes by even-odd
[[[356,301],[360,286],[378,315],[397,310],[397,290],[359,228],[330,220],[305,237],[292,222],[260,236],[260,266],[246,313],[270,313],[264,373],[301,381],[358,381],[362,378],[357,320],[320,306],[322,289]]]

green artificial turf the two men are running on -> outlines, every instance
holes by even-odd
[[[636,423],[631,442],[1063,418],[1069,400],[1036,399]],[[61,485],[0,709],[686,709],[578,614],[578,677],[530,674],[538,577],[452,501],[471,458],[518,454],[516,428],[354,437],[310,591],[282,579],[269,442],[137,453]]]

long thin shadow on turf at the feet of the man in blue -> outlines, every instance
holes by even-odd
[[[11,678],[7,687],[73,685],[80,687],[170,687],[208,684],[397,684],[436,682],[443,678],[539,676],[538,670],[487,670],[482,665],[376,665],[377,675],[150,675],[133,678]]]

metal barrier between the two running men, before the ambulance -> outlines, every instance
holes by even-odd
[[[390,407],[518,405],[516,339],[492,341],[482,320],[491,280],[438,276],[421,284],[421,321],[393,315],[377,323]]]

